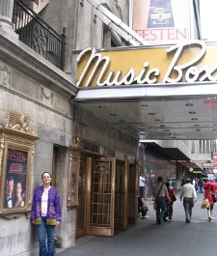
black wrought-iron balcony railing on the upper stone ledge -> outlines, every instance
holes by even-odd
[[[63,34],[59,35],[21,0],[14,1],[13,23],[22,43],[64,70],[65,28]]]

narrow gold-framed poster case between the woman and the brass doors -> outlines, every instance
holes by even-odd
[[[78,206],[79,169],[80,152],[70,149],[68,164],[68,209]]]

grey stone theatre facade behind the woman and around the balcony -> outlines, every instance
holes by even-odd
[[[30,4],[30,1],[26,1]],[[34,3],[33,3],[34,2]],[[114,35],[95,17],[86,1],[32,1],[42,7],[43,18],[57,32],[66,28],[65,69],[61,71],[33,49],[21,43],[12,23],[14,0],[0,1],[0,124],[4,128],[11,112],[25,115],[31,129],[37,132],[34,142],[28,205],[34,187],[41,185],[41,173],[52,172],[54,185],[60,191],[63,221],[56,234],[62,248],[75,243],[76,208],[68,209],[69,148],[78,136],[112,149],[116,156],[136,159],[138,141],[99,120],[87,110],[73,104],[76,83],[77,52],[87,46],[101,48],[114,43]],[[106,1],[113,13],[128,22],[128,1]],[[58,15],[54,15],[58,12]],[[116,38],[115,43],[122,43]],[[3,145],[4,146],[4,145]],[[5,186],[6,170],[1,165],[1,186]],[[3,200],[4,189],[1,189]],[[26,201],[26,204],[27,204]],[[28,211],[27,211],[28,212]],[[38,242],[28,213],[7,214],[1,207],[0,254],[30,256],[38,254]]]

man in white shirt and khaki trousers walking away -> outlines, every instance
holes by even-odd
[[[195,205],[195,201],[197,201],[197,193],[195,190],[195,186],[192,185],[191,180],[189,178],[186,179],[186,184],[181,186],[180,191],[180,201],[183,198],[183,207],[186,217],[186,223],[190,223],[192,209]]]

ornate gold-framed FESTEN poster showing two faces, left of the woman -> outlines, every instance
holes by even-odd
[[[38,137],[13,126],[0,128],[0,217],[29,213],[34,141]]]

